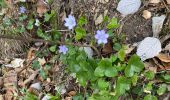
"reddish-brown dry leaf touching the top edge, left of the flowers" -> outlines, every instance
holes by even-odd
[[[38,0],[37,2],[37,13],[40,17],[43,16],[44,13],[46,13],[48,10],[48,5],[44,0]]]

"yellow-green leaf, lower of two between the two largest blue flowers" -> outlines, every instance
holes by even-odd
[[[76,32],[75,38],[77,41],[82,39],[84,36],[86,36],[86,30],[81,27],[76,27],[75,32]]]

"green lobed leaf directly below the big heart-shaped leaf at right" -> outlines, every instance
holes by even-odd
[[[116,82],[116,95],[122,95],[124,94],[127,90],[130,89],[130,80],[128,80],[126,77],[120,76],[118,77],[118,80]]]

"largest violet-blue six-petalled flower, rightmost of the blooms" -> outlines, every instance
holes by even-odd
[[[97,34],[95,35],[95,39],[97,39],[98,44],[101,44],[101,43],[106,44],[108,37],[109,37],[109,35],[106,34],[106,32],[104,30],[98,30]]]

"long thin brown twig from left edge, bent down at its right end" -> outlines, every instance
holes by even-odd
[[[21,40],[21,41],[32,41],[32,42],[44,42],[48,44],[73,45],[73,46],[78,46],[78,47],[91,47],[92,49],[95,50],[97,55],[101,57],[101,54],[98,51],[98,49],[92,45],[85,45],[85,44],[78,44],[78,43],[66,43],[66,42],[61,42],[61,41],[50,41],[50,40],[35,39],[35,38],[30,38],[30,37],[23,38],[23,37],[7,36],[7,35],[0,35],[0,38]]]

